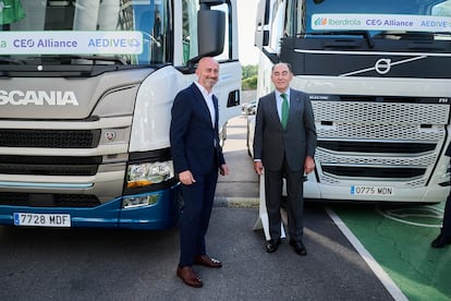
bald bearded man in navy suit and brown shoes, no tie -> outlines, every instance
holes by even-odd
[[[174,171],[182,186],[184,208],[180,224],[180,262],[176,275],[188,286],[203,281],[193,264],[221,267],[207,255],[205,234],[210,219],[218,170],[229,173],[218,135],[218,99],[212,87],[218,82],[219,64],[203,58],[196,69],[197,82],[181,91],[174,99],[170,141]]]

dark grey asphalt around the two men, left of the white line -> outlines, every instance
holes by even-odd
[[[166,231],[0,227],[0,300],[392,300],[324,207],[305,207],[298,256],[283,240],[265,251],[258,178],[245,147],[245,117],[229,124],[207,233],[219,269],[194,266],[200,289],[176,276],[178,228]]]

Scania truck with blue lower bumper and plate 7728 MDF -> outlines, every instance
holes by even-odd
[[[175,94],[215,57],[240,113],[235,0],[0,1],[0,224],[164,229]]]

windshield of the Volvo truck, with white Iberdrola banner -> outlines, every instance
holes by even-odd
[[[306,0],[304,10],[303,34],[361,31],[375,38],[451,39],[451,0]]]

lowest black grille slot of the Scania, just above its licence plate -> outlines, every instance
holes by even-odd
[[[27,207],[96,207],[95,195],[0,192],[0,205]]]

